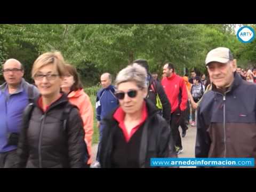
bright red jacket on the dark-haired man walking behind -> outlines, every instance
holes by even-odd
[[[164,77],[162,79],[162,85],[164,87],[164,91],[169,99],[173,113],[179,106],[179,93],[181,91],[181,103],[180,110],[184,111],[187,108],[188,102],[188,93],[186,89],[185,81],[179,75],[173,73],[171,77]]]

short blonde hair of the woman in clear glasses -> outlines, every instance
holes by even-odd
[[[65,75],[65,60],[59,51],[54,51],[43,53],[35,60],[31,71],[32,77],[35,76],[40,68],[49,64],[57,67],[59,76]]]

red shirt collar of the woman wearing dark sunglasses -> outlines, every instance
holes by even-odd
[[[124,117],[125,117],[125,113],[123,111],[123,109],[121,107],[119,107],[116,112],[113,115],[114,119],[116,119],[116,121],[119,123],[119,127],[120,129],[123,131],[124,134],[124,138],[126,140],[126,142],[129,142],[129,140],[131,139],[132,135],[140,128],[140,126],[146,121],[147,117],[148,117],[148,111],[147,111],[147,107],[146,107],[146,102],[143,102],[143,106],[142,106],[142,117],[140,119],[140,122],[138,125],[136,125],[135,127],[133,127],[133,129],[131,130],[130,135],[128,134],[125,124],[124,124]]]

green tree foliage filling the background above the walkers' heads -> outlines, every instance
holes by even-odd
[[[255,25],[251,25],[255,29]],[[29,81],[31,66],[39,54],[61,51],[76,66],[86,86],[96,85],[102,73],[115,75],[138,58],[147,59],[150,71],[162,74],[166,61],[177,72],[197,68],[205,72],[207,52],[229,47],[244,67],[256,56],[255,41],[238,41],[233,24],[26,24],[0,25],[0,61],[15,58],[25,66]]]

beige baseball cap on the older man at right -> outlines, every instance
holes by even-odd
[[[226,47],[218,47],[216,49],[211,50],[205,59],[205,65],[207,66],[210,62],[221,62],[227,63],[230,60],[234,60],[233,54]]]

